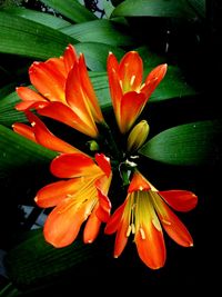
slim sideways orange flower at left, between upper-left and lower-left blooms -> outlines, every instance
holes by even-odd
[[[52,132],[49,131],[49,129],[46,127],[46,125],[31,111],[26,111],[27,118],[31,122],[31,127],[22,123],[22,122],[14,122],[12,125],[12,128],[14,132],[48,148],[58,152],[80,152],[79,149],[72,147],[68,142],[61,140],[57,136],[54,136]]]

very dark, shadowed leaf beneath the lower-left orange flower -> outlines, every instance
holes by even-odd
[[[70,271],[73,277],[73,268],[80,270],[95,256],[99,256],[95,244],[85,245],[77,239],[68,247],[54,248],[46,242],[42,229],[37,229],[24,234],[23,240],[8,253],[6,268],[12,283],[26,290],[67,278]]]

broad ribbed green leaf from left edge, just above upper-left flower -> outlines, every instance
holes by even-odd
[[[0,12],[0,52],[36,59],[59,57],[68,43],[77,42],[56,29],[6,12]]]

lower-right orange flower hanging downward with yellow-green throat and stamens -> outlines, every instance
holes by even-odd
[[[132,234],[141,260],[152,269],[162,267],[165,261],[162,227],[179,245],[193,245],[190,232],[170,207],[178,211],[189,211],[196,202],[198,198],[191,191],[158,191],[135,171],[124,204],[114,211],[104,230],[105,234],[117,231],[114,257],[120,256]]]

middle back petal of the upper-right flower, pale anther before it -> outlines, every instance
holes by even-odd
[[[123,92],[137,90],[143,76],[143,62],[137,51],[127,52],[120,61],[119,76]]]

